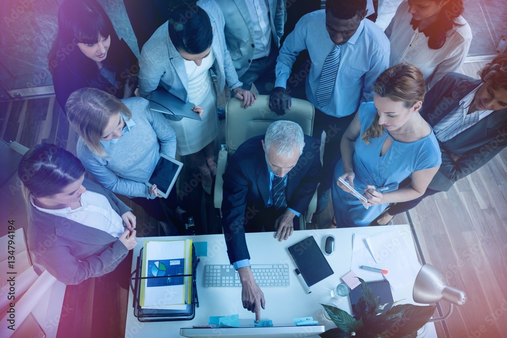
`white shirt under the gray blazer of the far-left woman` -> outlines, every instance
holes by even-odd
[[[103,195],[86,191],[81,194],[81,207],[70,209],[44,209],[33,203],[31,204],[42,212],[64,217],[85,226],[105,231],[106,233],[119,238],[124,232],[122,217],[111,207],[107,198]]]

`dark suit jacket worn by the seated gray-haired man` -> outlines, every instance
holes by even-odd
[[[269,172],[261,140],[252,137],[239,146],[229,159],[224,174],[222,201],[224,235],[231,264],[249,259],[245,240],[268,203]],[[296,166],[288,172],[285,197],[287,207],[303,213],[308,208],[320,180],[319,142],[305,135],[305,147]]]

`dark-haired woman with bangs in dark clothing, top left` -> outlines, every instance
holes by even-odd
[[[48,56],[56,100],[65,111],[69,95],[97,88],[126,98],[137,86],[137,59],[120,41],[95,0],[66,0],[58,11],[58,32]]]

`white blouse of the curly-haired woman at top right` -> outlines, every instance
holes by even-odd
[[[460,72],[472,42],[472,30],[465,19],[459,16],[456,21],[461,26],[447,32],[444,46],[440,49],[430,49],[429,37],[420,32],[419,28],[414,30],[410,24],[412,14],[408,11],[408,2],[404,1],[385,30],[391,45],[389,66],[404,61],[412,63],[422,71],[429,90],[445,74],[452,71]]]

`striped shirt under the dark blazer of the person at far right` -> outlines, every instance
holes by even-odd
[[[484,84],[479,85],[472,92],[468,93],[459,101],[459,105],[450,114],[443,118],[433,127],[433,132],[440,142],[447,142],[462,131],[472,127],[488,115],[493,110],[476,110],[468,114],[468,108],[474,96]]]

